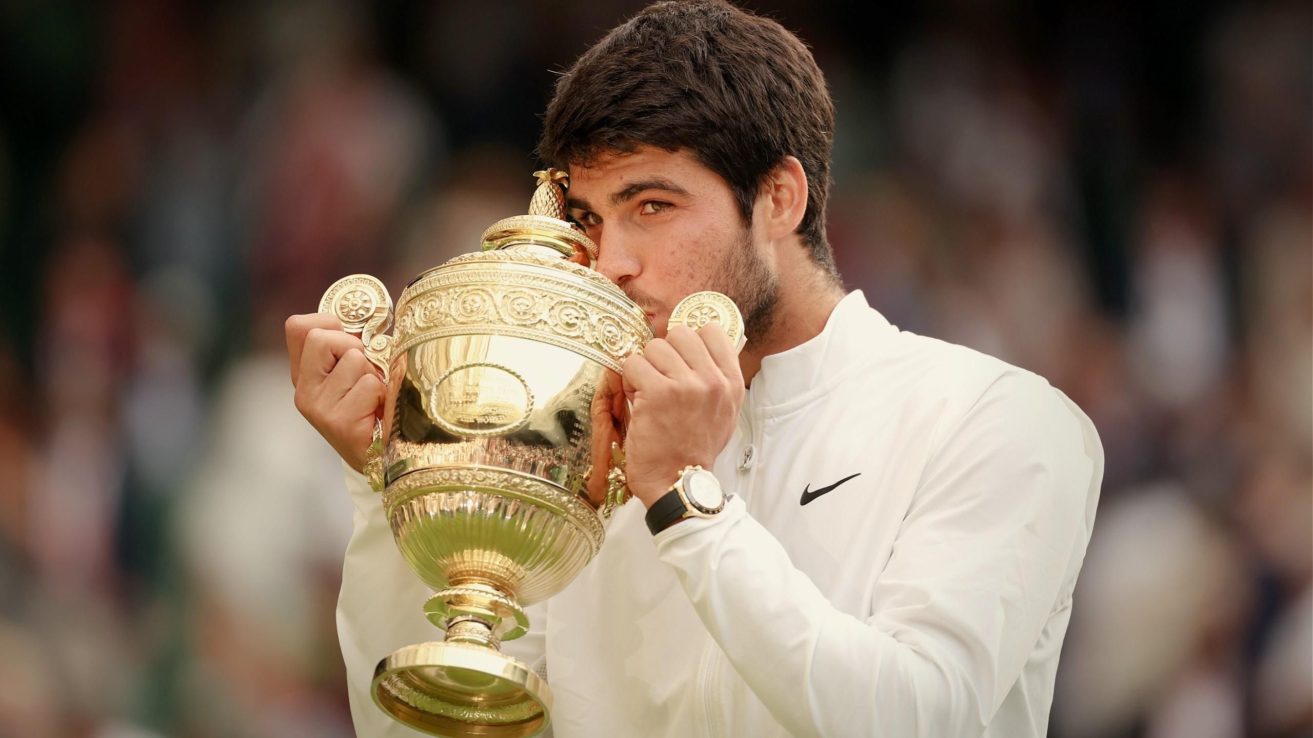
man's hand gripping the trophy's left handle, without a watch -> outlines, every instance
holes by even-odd
[[[365,358],[365,344],[327,313],[293,315],[286,330],[297,410],[360,471],[382,416],[382,374]]]

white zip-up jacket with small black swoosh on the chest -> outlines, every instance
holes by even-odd
[[[1103,450],[1044,378],[901,332],[853,292],[762,361],[716,477],[734,496],[714,519],[654,538],[641,503],[617,511],[503,643],[545,655],[555,738],[1045,734]],[[361,737],[411,737],[370,676],[441,633],[378,495],[349,470],[348,487],[352,716]]]

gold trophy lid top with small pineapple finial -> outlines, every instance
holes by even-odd
[[[566,218],[566,194],[570,175],[559,169],[534,172],[538,188],[529,201],[528,215],[512,215],[483,231],[483,251],[517,248],[540,253],[557,252],[570,257],[583,252],[597,260],[597,244]]]

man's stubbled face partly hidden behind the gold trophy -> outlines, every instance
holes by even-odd
[[[748,345],[769,327],[773,257],[725,180],[689,154],[639,147],[574,167],[569,197],[570,214],[597,244],[597,271],[647,313],[658,336],[675,303],[700,290],[738,303]]]

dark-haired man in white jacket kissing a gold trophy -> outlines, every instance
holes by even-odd
[[[832,105],[806,47],[712,0],[660,3],[559,80],[540,154],[569,168],[596,268],[656,326],[743,311],[625,364],[628,478],[597,558],[504,650],[544,668],[557,738],[1044,735],[1103,454],[1043,378],[899,332],[844,294],[825,236]],[[356,471],[382,387],[332,319],[288,322],[302,414],[353,469],[339,600],[361,735],[404,735],[374,663],[433,640],[428,592]],[[729,500],[645,521],[692,465]]]

